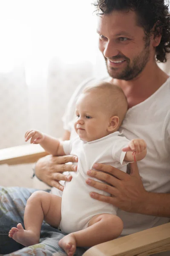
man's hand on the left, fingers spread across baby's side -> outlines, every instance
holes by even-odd
[[[76,172],[77,166],[74,164],[65,164],[68,162],[78,162],[76,156],[61,156],[53,157],[47,155],[40,158],[35,166],[36,176],[49,186],[54,186],[63,191],[63,186],[59,183],[60,180],[70,181],[71,175],[64,175],[63,172]]]

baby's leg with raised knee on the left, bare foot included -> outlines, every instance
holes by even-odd
[[[39,243],[43,219],[50,225],[58,227],[61,221],[61,197],[44,191],[34,192],[26,203],[24,226],[19,223],[12,227],[9,237],[24,246]]]

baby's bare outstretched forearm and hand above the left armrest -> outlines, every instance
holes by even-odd
[[[40,144],[42,148],[49,154],[54,156],[63,156],[65,152],[63,150],[62,142],[47,134],[43,134],[37,130],[29,130],[25,134],[25,141],[30,140],[30,143]]]

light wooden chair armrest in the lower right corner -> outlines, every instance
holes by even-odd
[[[83,256],[147,256],[168,250],[170,223],[95,245]]]

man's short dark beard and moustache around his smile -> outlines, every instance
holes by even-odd
[[[149,61],[149,58],[150,58],[149,47],[150,47],[150,38],[145,38],[144,49],[141,51],[141,53],[138,56],[136,56],[133,59],[133,62],[131,65],[130,65],[130,59],[127,58],[125,55],[116,55],[110,58],[111,61],[118,61],[118,60],[124,59],[127,62],[127,67],[124,70],[122,70],[120,73],[116,72],[117,68],[108,67],[107,58],[104,57],[109,76],[115,79],[121,79],[126,81],[133,80],[144,70],[144,67]]]

